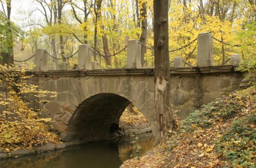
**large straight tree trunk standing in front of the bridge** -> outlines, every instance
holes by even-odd
[[[170,113],[168,0],[154,0],[155,105],[160,136],[174,127]]]

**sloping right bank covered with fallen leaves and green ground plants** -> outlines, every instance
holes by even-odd
[[[126,167],[255,167],[256,89],[217,99],[191,113],[140,160]]]

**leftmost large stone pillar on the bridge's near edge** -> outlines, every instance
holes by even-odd
[[[37,49],[35,52],[35,71],[48,71],[48,56],[45,49]]]

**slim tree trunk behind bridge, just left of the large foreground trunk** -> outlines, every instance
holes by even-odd
[[[146,45],[146,34],[147,34],[147,13],[146,13],[146,2],[142,4],[142,8],[140,8],[140,14],[141,14],[141,36],[140,36],[140,42]],[[146,47],[141,46],[141,65],[144,65],[144,57],[146,53]]]

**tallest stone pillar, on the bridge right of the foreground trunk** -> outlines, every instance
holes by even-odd
[[[210,33],[200,33],[198,35],[198,55],[197,66],[214,66],[213,43]]]

